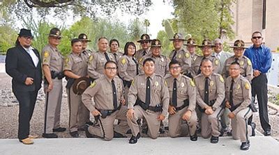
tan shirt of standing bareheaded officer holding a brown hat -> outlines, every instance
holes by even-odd
[[[73,74],[79,76],[87,75],[87,60],[88,55],[85,53],[74,54],[73,52],[67,56],[64,60],[63,70],[73,72]]]

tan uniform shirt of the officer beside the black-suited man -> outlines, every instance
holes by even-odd
[[[50,44],[47,44],[42,50],[43,65],[48,65],[50,71],[62,72],[63,70],[63,56],[60,51]]]

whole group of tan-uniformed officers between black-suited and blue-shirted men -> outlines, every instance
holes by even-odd
[[[41,52],[46,94],[43,137],[57,138],[55,132],[66,131],[60,126],[62,79],[66,76],[73,138],[80,137],[79,131],[104,140],[131,133],[129,143],[134,144],[141,137],[141,125],[155,139],[168,117],[172,138],[189,136],[196,141],[201,130],[203,138],[217,143],[224,127],[231,124],[232,137],[241,140],[242,150],[249,149],[249,136],[255,136],[255,124],[248,122],[252,64],[243,56],[243,40],[234,42],[234,55],[223,51],[220,39],[204,39],[197,45],[193,38],[185,40],[175,33],[170,40],[174,50],[169,57],[161,54],[160,40],[151,40],[147,34],[137,41],[140,50],[136,51],[134,42],[127,42],[121,53],[118,40],[109,42],[102,37],[98,51],[93,52],[86,49],[91,40],[82,33],[71,40],[72,52],[63,58],[57,48],[61,31],[52,28]],[[187,50],[183,49],[185,41]],[[195,53],[196,47],[203,56]],[[218,50],[228,54],[225,60]]]

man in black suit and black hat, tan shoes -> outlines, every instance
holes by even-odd
[[[6,73],[13,78],[13,93],[20,103],[17,137],[26,145],[33,144],[32,138],[37,137],[29,135],[29,127],[42,82],[40,55],[31,47],[32,39],[31,31],[22,28],[15,47],[8,49],[6,55]]]

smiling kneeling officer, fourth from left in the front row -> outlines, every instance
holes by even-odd
[[[219,117],[223,113],[225,99],[225,83],[220,74],[213,72],[209,58],[202,60],[202,73],[195,76],[197,85],[197,104],[202,111],[202,137],[209,138],[211,143],[219,140]]]

